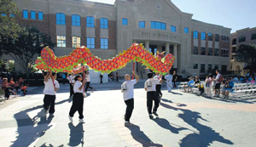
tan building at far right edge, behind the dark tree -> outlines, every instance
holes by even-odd
[[[245,45],[256,45],[256,27],[238,30],[230,36],[230,71],[234,71],[238,76],[246,76],[249,72],[247,64],[236,62],[232,54],[236,53],[238,48]]]

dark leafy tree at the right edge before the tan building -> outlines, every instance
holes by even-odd
[[[250,72],[256,70],[256,46],[245,45],[238,48],[234,55],[236,62],[246,63],[250,67]]]

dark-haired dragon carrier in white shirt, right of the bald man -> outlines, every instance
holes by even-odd
[[[154,116],[158,116],[156,113],[157,108],[159,107],[159,99],[155,90],[155,86],[159,83],[162,82],[162,79],[154,79],[153,78],[153,73],[148,72],[148,80],[144,84],[144,88],[147,91],[147,107],[148,107],[148,115],[150,119],[153,119],[154,117],[152,116],[152,105],[153,105],[153,100],[154,100],[154,109],[153,109],[153,114]]]

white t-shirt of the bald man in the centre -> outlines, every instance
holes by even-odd
[[[137,83],[137,80],[125,81],[121,85],[121,90],[123,91],[123,98],[124,100],[132,99],[133,98],[133,86]]]

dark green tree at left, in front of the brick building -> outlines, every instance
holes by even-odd
[[[15,59],[15,62],[26,72],[26,79],[29,80],[29,74],[33,70],[32,65],[40,55],[42,48],[46,46],[54,48],[55,43],[37,28],[26,27],[18,32],[16,39],[3,38],[0,42],[0,51]]]

